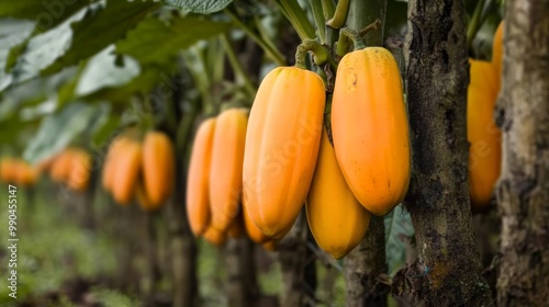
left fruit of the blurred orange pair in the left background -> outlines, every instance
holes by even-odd
[[[142,145],[136,140],[127,140],[119,149],[116,172],[112,186],[112,195],[116,203],[127,205],[135,195],[135,186],[142,168]]]

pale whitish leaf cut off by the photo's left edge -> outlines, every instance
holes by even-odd
[[[34,24],[26,20],[0,19],[0,91],[10,86],[12,77],[5,73],[10,49],[31,35]]]

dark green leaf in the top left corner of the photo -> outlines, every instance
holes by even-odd
[[[77,0],[0,1],[0,16],[31,20],[36,23],[36,31],[43,32],[60,24],[89,3]]]

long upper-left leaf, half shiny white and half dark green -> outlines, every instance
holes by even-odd
[[[148,12],[159,7],[160,3],[153,1],[123,0],[91,4],[31,38],[16,60],[13,75],[21,82],[76,65],[124,37]]]

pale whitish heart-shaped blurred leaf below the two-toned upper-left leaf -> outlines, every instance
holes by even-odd
[[[120,87],[139,75],[139,64],[136,60],[128,56],[121,59],[122,66],[119,67],[114,45],[90,58],[78,80],[76,94],[87,95],[102,88]]]

